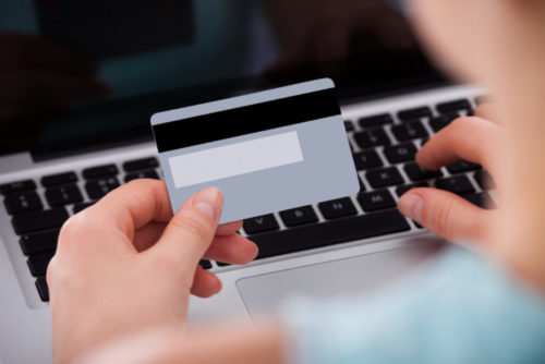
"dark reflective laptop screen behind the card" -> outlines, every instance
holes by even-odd
[[[319,77],[341,102],[445,83],[407,19],[399,0],[4,0],[0,155],[149,141],[155,112]]]

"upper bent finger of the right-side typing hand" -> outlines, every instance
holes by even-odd
[[[459,118],[424,144],[416,154],[416,162],[435,170],[465,159],[495,174],[498,138],[498,125],[475,117]]]

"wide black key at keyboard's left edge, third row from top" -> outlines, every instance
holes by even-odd
[[[23,213],[12,220],[13,229],[21,235],[27,232],[60,228],[69,215],[64,207],[55,207],[49,210]]]

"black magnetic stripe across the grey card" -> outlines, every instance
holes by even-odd
[[[335,88],[153,125],[159,153],[340,114]]]

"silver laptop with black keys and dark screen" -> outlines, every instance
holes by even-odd
[[[414,162],[483,90],[431,63],[398,1],[15,4],[0,4],[2,58],[13,61],[0,70],[0,363],[51,362],[45,274],[59,229],[122,183],[162,178],[158,111],[329,77],[360,178],[356,195],[244,220],[259,256],[201,262],[223,289],[191,299],[194,324],[257,323],[294,294],[372,294],[426,265],[443,242],[396,209],[413,186],[495,198],[477,165]]]

